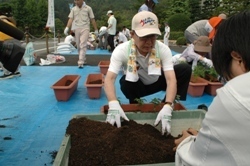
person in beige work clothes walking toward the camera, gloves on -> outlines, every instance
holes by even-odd
[[[68,35],[69,29],[74,25],[75,40],[78,48],[79,60],[78,67],[83,68],[86,64],[86,51],[87,41],[90,33],[90,21],[95,29],[95,35],[98,35],[98,29],[95,21],[95,16],[92,8],[84,2],[84,0],[75,0],[76,6],[74,6],[70,13],[67,26],[64,30],[64,34]]]

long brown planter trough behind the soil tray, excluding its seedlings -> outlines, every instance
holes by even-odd
[[[159,112],[164,103],[160,103],[159,105],[155,105],[153,103],[144,103],[140,104],[121,104],[121,107],[124,112]],[[101,112],[107,114],[109,106],[104,105],[101,107]],[[175,103],[174,111],[186,110],[186,108],[181,103]]]

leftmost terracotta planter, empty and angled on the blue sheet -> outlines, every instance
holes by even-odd
[[[78,86],[79,75],[65,75],[51,86],[58,101],[67,101]]]

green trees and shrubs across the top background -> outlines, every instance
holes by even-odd
[[[107,26],[106,13],[108,10],[113,10],[118,22],[117,30],[121,30],[122,26],[130,29],[132,17],[144,0],[85,0],[85,2],[92,7],[99,28]],[[54,0],[56,31],[59,30],[61,33],[67,24],[69,3],[74,1]],[[162,25],[160,27],[162,32],[164,23],[169,22],[171,33],[178,34],[197,20],[209,19],[220,13],[231,16],[246,9],[250,9],[249,0],[159,0],[154,13]],[[0,0],[0,13],[13,15],[19,29],[24,31],[28,26],[31,34],[41,35],[47,22],[48,0]],[[93,27],[91,30],[93,31]]]

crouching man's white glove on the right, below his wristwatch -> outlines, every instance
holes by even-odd
[[[161,121],[162,135],[164,134],[168,135],[171,133],[170,122],[171,122],[171,117],[172,117],[172,111],[173,111],[173,108],[170,105],[165,104],[157,115],[154,125],[157,126],[159,122]]]

